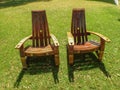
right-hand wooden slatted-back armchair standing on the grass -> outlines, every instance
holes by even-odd
[[[89,41],[88,35],[94,34],[100,37],[100,42]],[[73,9],[71,32],[67,32],[68,45],[67,55],[68,64],[73,65],[74,54],[89,53],[95,51],[98,59],[101,61],[105,49],[105,42],[110,40],[96,32],[86,31],[85,9]]]

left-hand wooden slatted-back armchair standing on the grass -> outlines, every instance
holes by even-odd
[[[27,40],[32,40],[32,45],[24,47]],[[53,55],[55,65],[59,65],[59,43],[55,36],[49,33],[45,10],[32,11],[32,35],[21,40],[15,48],[19,49],[23,68],[28,66],[26,58],[32,56]]]

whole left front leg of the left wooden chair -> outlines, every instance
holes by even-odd
[[[27,62],[26,62],[26,58],[25,58],[25,54],[24,54],[23,45],[20,48],[20,58],[21,58],[21,63],[22,63],[23,69],[27,69]]]

